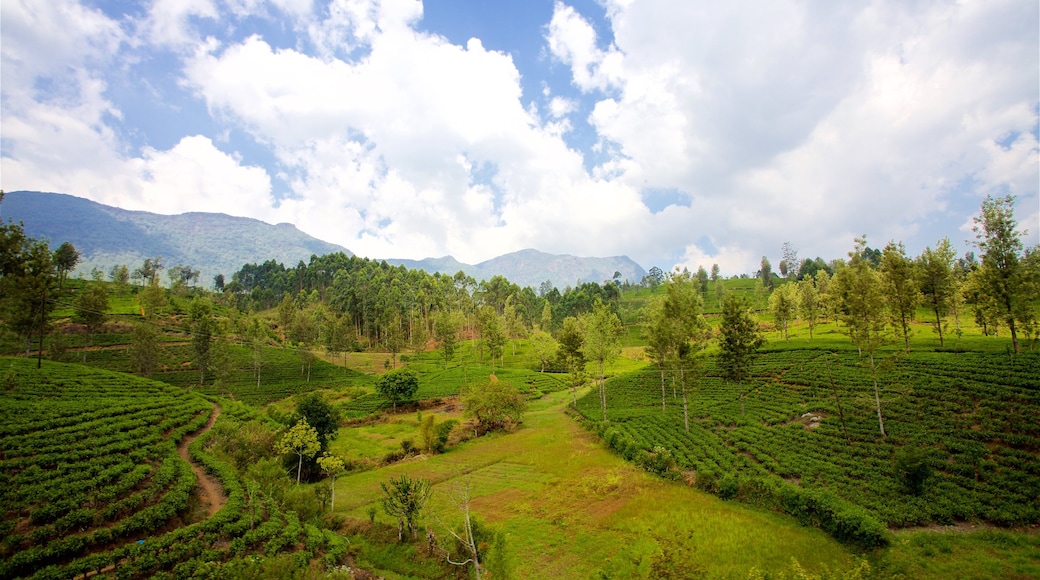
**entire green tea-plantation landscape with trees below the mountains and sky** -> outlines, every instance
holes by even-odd
[[[0,225],[0,578],[1040,576],[1040,248],[974,233],[203,288]]]

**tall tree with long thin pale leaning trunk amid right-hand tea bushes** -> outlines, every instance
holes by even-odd
[[[881,389],[878,386],[878,365],[876,353],[885,341],[885,300],[882,296],[881,276],[874,269],[866,236],[855,239],[855,247],[849,253],[849,265],[834,273],[831,282],[836,294],[841,296],[840,318],[844,322],[849,339],[859,350],[860,357],[867,354],[870,361],[870,376],[874,378],[874,399],[878,410],[878,425],[881,437],[885,437],[885,420],[881,414]]]

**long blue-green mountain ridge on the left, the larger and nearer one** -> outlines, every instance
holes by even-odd
[[[4,220],[21,221],[26,235],[47,238],[52,249],[66,241],[75,245],[81,256],[77,273],[98,267],[107,274],[119,264],[132,271],[146,258],[161,256],[167,268],[198,269],[199,283],[209,286],[214,275],[230,280],[243,264],[276,260],[293,266],[312,255],[350,255],[290,223],[271,226],[223,213],[128,211],[63,193],[7,192],[0,212]]]

